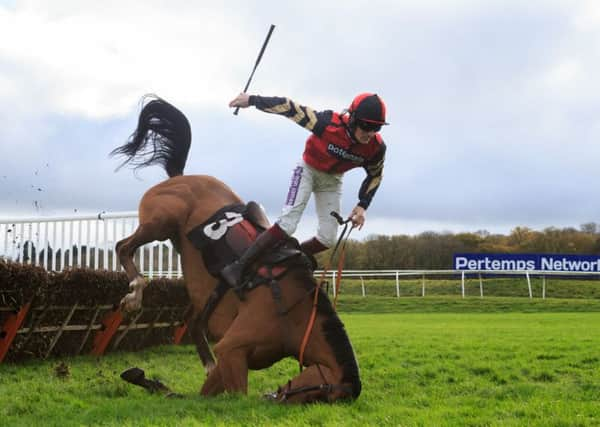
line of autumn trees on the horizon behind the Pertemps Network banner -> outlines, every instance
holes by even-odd
[[[580,229],[549,227],[535,231],[516,227],[509,235],[424,232],[415,236],[373,235],[349,240],[346,269],[450,269],[458,252],[600,254],[600,226],[586,223]],[[329,251],[319,254],[324,265]]]

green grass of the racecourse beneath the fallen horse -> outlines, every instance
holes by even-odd
[[[205,399],[192,346],[100,359],[0,365],[0,425],[600,425],[600,301],[344,296],[361,367],[354,403],[261,399],[297,373],[252,372],[248,396]],[[55,374],[59,362],[70,371]],[[183,398],[149,395],[119,373],[145,369]]]

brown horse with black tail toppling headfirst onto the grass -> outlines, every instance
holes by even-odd
[[[218,272],[207,268],[206,257],[214,254],[200,250],[190,236],[199,227],[211,232],[229,227],[233,221],[221,220],[209,228],[205,224],[215,212],[244,203],[215,177],[184,175],[191,127],[180,110],[156,95],[144,97],[141,104],[135,131],[111,155],[125,158],[119,168],[160,165],[169,178],[145,192],[139,204],[139,226],[116,245],[131,291],[121,300],[122,310],[139,310],[147,286],[134,263],[135,251],[154,240],[170,240],[181,255],[193,310],[189,331],[206,371],[201,395],[247,394],[249,369],[265,369],[293,357],[300,361],[300,373],[269,394],[271,399],[307,403],[358,398],[362,385],[352,344],[305,263],[291,263],[283,273],[246,289],[243,295],[227,289],[222,298],[211,299],[222,284]],[[263,216],[265,221],[268,226]],[[255,269],[263,265],[261,260],[256,264]],[[205,307],[211,301],[214,307],[208,316]],[[207,335],[214,340],[215,357]]]

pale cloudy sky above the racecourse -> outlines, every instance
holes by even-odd
[[[383,182],[353,237],[600,222],[597,0],[0,0],[0,218],[136,210],[166,175],[108,153],[155,93],[191,123],[185,172],[276,220],[308,132],[228,108],[271,24],[249,93],[387,104]],[[345,215],[364,176],[344,178]],[[311,203],[296,235],[315,228]]]

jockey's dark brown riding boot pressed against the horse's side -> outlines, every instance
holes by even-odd
[[[286,232],[279,225],[272,225],[256,238],[237,261],[232,262],[221,270],[221,277],[232,288],[238,288],[246,267],[286,237]]]

